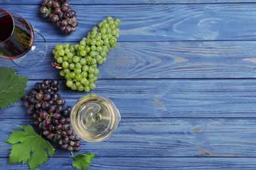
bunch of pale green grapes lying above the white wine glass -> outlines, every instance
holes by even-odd
[[[60,75],[66,79],[66,86],[80,92],[89,92],[96,87],[95,81],[100,73],[97,65],[106,61],[106,54],[116,46],[120,22],[119,18],[114,20],[108,16],[79,43],[56,44],[53,50],[56,62],[52,65],[61,69]]]

